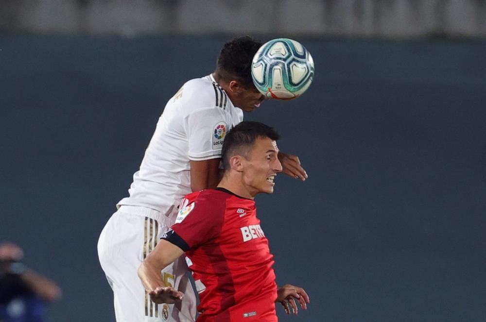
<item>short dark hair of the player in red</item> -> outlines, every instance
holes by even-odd
[[[266,124],[254,121],[243,121],[226,133],[221,151],[223,169],[229,167],[229,159],[236,154],[247,156],[258,137],[268,137],[274,141],[280,139],[280,135]]]

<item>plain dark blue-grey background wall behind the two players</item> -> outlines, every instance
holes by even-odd
[[[227,38],[0,35],[0,240],[63,288],[50,321],[114,321],[99,233]],[[311,297],[280,321],[486,321],[486,42],[298,40],[309,91],[246,115],[309,174],[257,199],[278,283]]]

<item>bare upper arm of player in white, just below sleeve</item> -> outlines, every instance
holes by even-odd
[[[215,188],[220,179],[220,158],[204,161],[190,161],[191,164],[191,190],[192,192],[208,188]]]

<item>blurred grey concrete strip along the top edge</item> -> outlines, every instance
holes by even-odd
[[[485,36],[486,0],[0,0],[0,31]]]

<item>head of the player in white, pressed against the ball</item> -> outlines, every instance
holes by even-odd
[[[228,41],[219,53],[213,73],[231,102],[246,112],[253,111],[264,100],[251,78],[251,61],[261,45],[249,36]]]

